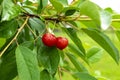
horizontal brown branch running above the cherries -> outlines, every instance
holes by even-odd
[[[40,18],[38,15],[35,14],[29,14],[29,13],[24,13],[24,15],[21,16],[30,16],[30,17],[36,17]],[[54,21],[56,23],[62,22],[62,21],[92,21],[91,18],[88,16],[56,16],[56,15],[41,15],[46,21]],[[112,22],[120,22],[120,19],[112,19]]]

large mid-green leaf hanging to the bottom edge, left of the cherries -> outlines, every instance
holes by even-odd
[[[40,80],[37,57],[34,53],[27,47],[18,46],[15,54],[19,79]]]

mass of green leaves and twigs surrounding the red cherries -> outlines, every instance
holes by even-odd
[[[56,74],[61,78],[64,71],[75,79],[97,80],[76,55],[89,64],[101,49],[85,51],[78,32],[86,33],[119,63],[118,49],[101,31],[101,26],[111,25],[108,11],[88,0],[70,4],[68,0],[0,0],[0,80],[56,80]],[[120,40],[119,22],[112,25]],[[63,51],[41,42],[46,31],[56,29],[72,41]]]

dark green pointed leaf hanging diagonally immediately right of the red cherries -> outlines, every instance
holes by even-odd
[[[81,50],[83,54],[85,54],[85,49],[82,46],[82,42],[79,39],[79,37],[76,34],[76,30],[73,28],[62,28],[67,35],[70,37],[70,39],[76,44],[76,46]]]

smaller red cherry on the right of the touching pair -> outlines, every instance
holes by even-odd
[[[57,48],[59,48],[60,50],[63,50],[64,48],[67,47],[67,45],[68,45],[67,38],[57,37],[57,43],[56,43]]]

